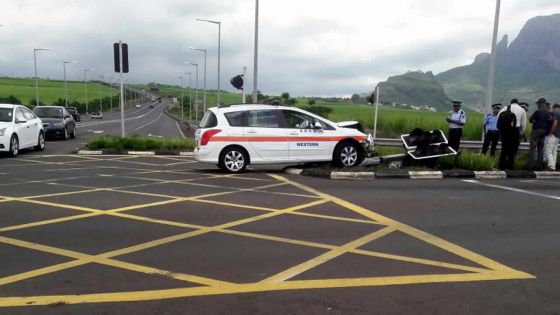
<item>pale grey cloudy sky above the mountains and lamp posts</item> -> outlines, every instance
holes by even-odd
[[[208,50],[208,87],[216,88],[218,27],[222,21],[222,88],[248,68],[252,88],[254,0],[2,0],[0,74],[82,79],[112,72],[112,43],[129,44],[130,80],[178,84],[184,61]],[[489,51],[492,0],[260,0],[259,90],[298,96],[365,92],[407,70],[442,72]],[[558,0],[504,0],[500,37],[513,39],[537,15],[560,13]],[[193,83],[194,84],[194,83]],[[250,90],[251,88],[248,88]]]

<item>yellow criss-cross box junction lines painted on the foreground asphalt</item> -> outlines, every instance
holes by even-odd
[[[43,163],[43,164],[53,164],[53,165],[78,165],[85,162],[98,162],[98,161],[115,161],[113,158],[100,158],[100,157],[83,157],[80,156],[81,160],[74,162],[45,162],[45,161],[35,161],[32,159],[27,159],[28,163]],[[152,164],[139,162],[135,160],[138,157],[119,157],[118,161],[125,164],[136,164],[136,165],[159,165],[165,166],[165,164]],[[175,161],[176,163],[168,163],[168,166],[174,166],[178,164],[190,163],[190,160],[180,160],[174,157],[162,157],[160,160]],[[115,168],[107,166],[99,166],[93,168]],[[76,251],[66,250],[63,248],[56,248],[52,246],[17,240],[9,237],[0,236],[0,243],[10,244],[13,246],[18,246],[22,248],[27,248],[30,250],[55,254],[63,257],[72,259],[71,261],[47,266],[35,270],[26,271],[17,275],[9,275],[0,278],[0,286],[9,283],[17,283],[33,277],[39,277],[42,275],[51,274],[54,272],[64,272],[64,270],[69,268],[75,268],[77,266],[87,265],[87,264],[102,264],[107,266],[112,266],[124,270],[130,270],[134,272],[144,273],[144,274],[157,274],[165,277],[169,277],[179,281],[185,281],[189,283],[196,283],[200,286],[198,287],[186,287],[179,289],[164,289],[164,290],[147,290],[147,291],[134,291],[134,292],[117,292],[117,293],[96,293],[96,294],[82,294],[82,295],[54,295],[54,296],[30,296],[30,297],[2,297],[0,298],[0,307],[10,307],[10,306],[29,306],[29,305],[48,305],[54,303],[66,303],[66,304],[79,304],[79,303],[106,303],[106,302],[127,302],[127,301],[148,301],[148,300],[160,300],[160,299],[171,299],[180,297],[192,297],[192,296],[206,296],[206,295],[219,295],[219,294],[238,294],[238,293],[249,293],[249,292],[265,292],[265,291],[279,291],[279,290],[303,290],[303,289],[319,289],[319,288],[351,288],[351,287],[364,287],[364,286],[387,286],[387,285],[404,285],[404,284],[420,284],[420,283],[438,283],[438,282],[467,282],[467,281],[490,281],[490,280],[506,280],[506,279],[533,279],[534,276],[524,273],[522,271],[517,271],[511,267],[500,264],[492,259],[483,257],[472,251],[464,249],[460,246],[447,242],[440,239],[434,235],[428,234],[426,232],[420,231],[411,226],[402,224],[400,222],[394,221],[390,218],[382,216],[378,213],[372,212],[368,209],[360,207],[358,205],[349,203],[343,199],[331,196],[322,192],[319,192],[311,187],[299,184],[297,182],[291,181],[283,176],[276,174],[269,174],[269,179],[244,177],[244,175],[216,175],[208,173],[198,173],[198,172],[185,172],[185,171],[174,171],[174,170],[148,170],[141,168],[129,168],[126,166],[117,167],[119,169],[126,169],[129,171],[136,172],[135,175],[115,175],[115,177],[130,178],[137,180],[149,181],[148,184],[136,184],[124,187],[111,187],[111,188],[99,188],[99,187],[80,187],[82,190],[53,193],[53,194],[42,194],[36,196],[26,196],[26,197],[12,197],[12,196],[0,196],[0,203],[5,205],[10,205],[13,202],[23,202],[28,204],[45,205],[56,208],[70,209],[82,212],[77,215],[70,215],[62,218],[55,218],[49,220],[43,220],[39,222],[31,222],[26,224],[19,224],[9,227],[0,228],[0,232],[8,232],[14,230],[22,230],[47,224],[61,223],[61,222],[71,222],[73,220],[80,220],[84,218],[90,218],[95,216],[114,216],[129,220],[136,220],[142,222],[148,222],[152,224],[161,224],[168,226],[181,227],[185,229],[191,229],[185,233],[180,233],[177,235],[164,237],[157,240],[152,240],[144,242],[141,244],[136,244],[126,248],[112,250],[106,253],[101,253],[97,255],[88,255],[79,253]],[[186,179],[186,180],[161,180],[153,178],[142,177],[142,174],[154,174],[154,173],[170,173],[177,175],[197,175],[202,176],[196,179]],[[148,176],[148,175],[147,175]],[[68,179],[78,179],[83,177],[72,177],[65,179],[56,180],[42,180],[42,181],[28,181],[26,183],[53,183],[54,185],[66,186],[66,184],[57,183],[59,180]],[[231,188],[223,187],[220,185],[210,185],[204,183],[198,183],[202,178],[209,179],[219,179],[219,178],[230,178],[235,180],[245,180],[266,183],[264,186],[254,187],[254,188]],[[178,185],[193,185],[199,187],[208,188],[218,188],[227,189],[227,191],[222,191],[218,193],[209,193],[199,196],[192,197],[178,197],[166,194],[157,193],[142,193],[130,191],[133,187],[144,187],[149,185],[158,185],[162,183],[173,183]],[[274,191],[263,191],[267,188],[273,187],[292,187],[296,188],[301,193],[286,193],[286,192],[274,192]],[[120,207],[110,210],[99,210],[90,207],[82,207],[71,204],[60,204],[56,202],[49,202],[45,200],[40,200],[41,198],[57,197],[57,196],[68,196],[68,195],[79,195],[87,194],[91,192],[117,192],[123,193],[130,196],[147,196],[147,197],[157,197],[163,198],[164,200],[149,202],[139,205]],[[246,204],[231,203],[227,201],[227,197],[232,194],[241,192],[258,192],[263,194],[274,194],[284,196],[286,198],[292,197],[304,197],[309,198],[306,203],[285,208],[285,209],[272,209],[267,207],[256,207]],[[211,197],[223,196],[225,199],[222,201],[209,200]],[[196,224],[189,224],[183,222],[176,222],[170,220],[154,219],[149,217],[143,217],[134,215],[134,210],[143,209],[148,207],[159,207],[163,205],[176,204],[180,202],[190,202],[199,204],[215,204],[224,207],[239,208],[239,209],[252,209],[256,211],[264,211],[262,214],[251,216],[244,219],[238,219],[232,222],[223,223],[217,226],[201,226]],[[356,218],[346,218],[337,217],[331,215],[315,214],[315,213],[305,213],[300,210],[304,210],[310,207],[316,207],[325,205],[328,202],[333,202],[336,205],[350,211],[350,213],[355,213],[360,215],[363,219]],[[85,212],[85,213],[84,213]],[[257,233],[249,233],[237,230],[231,230],[231,228],[238,227],[244,224],[253,223],[257,221],[267,220],[273,217],[282,215],[293,215],[293,216],[305,216],[309,218],[327,219],[327,220],[337,220],[339,222],[356,222],[356,223],[367,223],[371,224],[371,233],[362,236],[356,240],[352,240],[342,246],[333,246],[328,244],[322,244],[317,242],[303,241],[298,239],[291,239],[278,236],[262,235]],[[442,249],[451,253],[457,257],[464,258],[468,261],[476,263],[480,267],[463,266],[459,264],[452,264],[447,262],[421,259],[415,257],[408,257],[403,255],[394,255],[389,253],[381,253],[376,251],[369,251],[360,249],[361,246],[375,242],[377,239],[383,238],[393,232],[402,232],[412,238],[423,241],[435,248]],[[187,238],[197,237],[200,235],[208,233],[222,233],[226,235],[235,235],[239,237],[260,239],[278,243],[306,246],[310,248],[322,249],[325,252],[311,258],[307,261],[297,263],[295,266],[286,268],[285,270],[278,271],[275,275],[269,276],[266,279],[257,281],[255,283],[239,284],[231,283],[227,281],[222,281],[218,279],[211,279],[201,275],[191,275],[176,273],[168,270],[161,270],[158,268],[153,268],[150,266],[142,266],[138,264],[123,262],[115,257],[147,250],[150,248],[156,248],[165,244],[171,244],[178,242],[180,240],[185,240]],[[390,277],[361,277],[361,278],[332,278],[332,279],[317,279],[317,280],[290,280],[297,275],[304,272],[310,271],[324,263],[331,261],[337,257],[345,254],[356,254],[368,257],[377,257],[382,259],[389,259],[394,261],[402,261],[408,263],[415,263],[419,265],[442,267],[451,270],[455,270],[458,273],[452,274],[419,274],[419,275],[406,275],[406,276],[390,276]]]

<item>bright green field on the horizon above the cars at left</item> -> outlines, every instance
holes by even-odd
[[[67,81],[68,102],[85,103],[85,86],[83,82]],[[90,103],[99,100],[101,92],[102,98],[111,95],[118,95],[119,91],[107,85],[97,82],[88,83],[88,99]],[[13,95],[21,100],[23,104],[35,99],[35,80],[0,78],[0,97]],[[45,104],[52,104],[59,98],[64,99],[64,81],[39,80],[39,99]]]

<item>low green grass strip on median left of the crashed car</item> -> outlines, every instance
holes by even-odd
[[[89,150],[192,150],[194,148],[194,139],[179,138],[150,138],[141,136],[130,136],[121,138],[119,136],[101,136],[89,140],[86,148]]]

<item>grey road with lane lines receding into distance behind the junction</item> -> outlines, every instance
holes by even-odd
[[[141,108],[128,108],[125,111],[126,134],[153,137],[182,137],[177,123],[164,114],[164,110],[171,105],[169,102],[154,103],[147,101],[140,104]],[[154,108],[149,108],[150,105],[153,105]],[[114,113],[105,113],[101,120],[92,120],[85,114],[82,114],[82,120],[76,124],[78,132],[76,139],[47,139],[45,151],[22,150],[20,154],[23,156],[68,154],[72,150],[82,147],[92,137],[120,135],[120,112],[116,112],[116,110],[117,108],[115,108]]]

